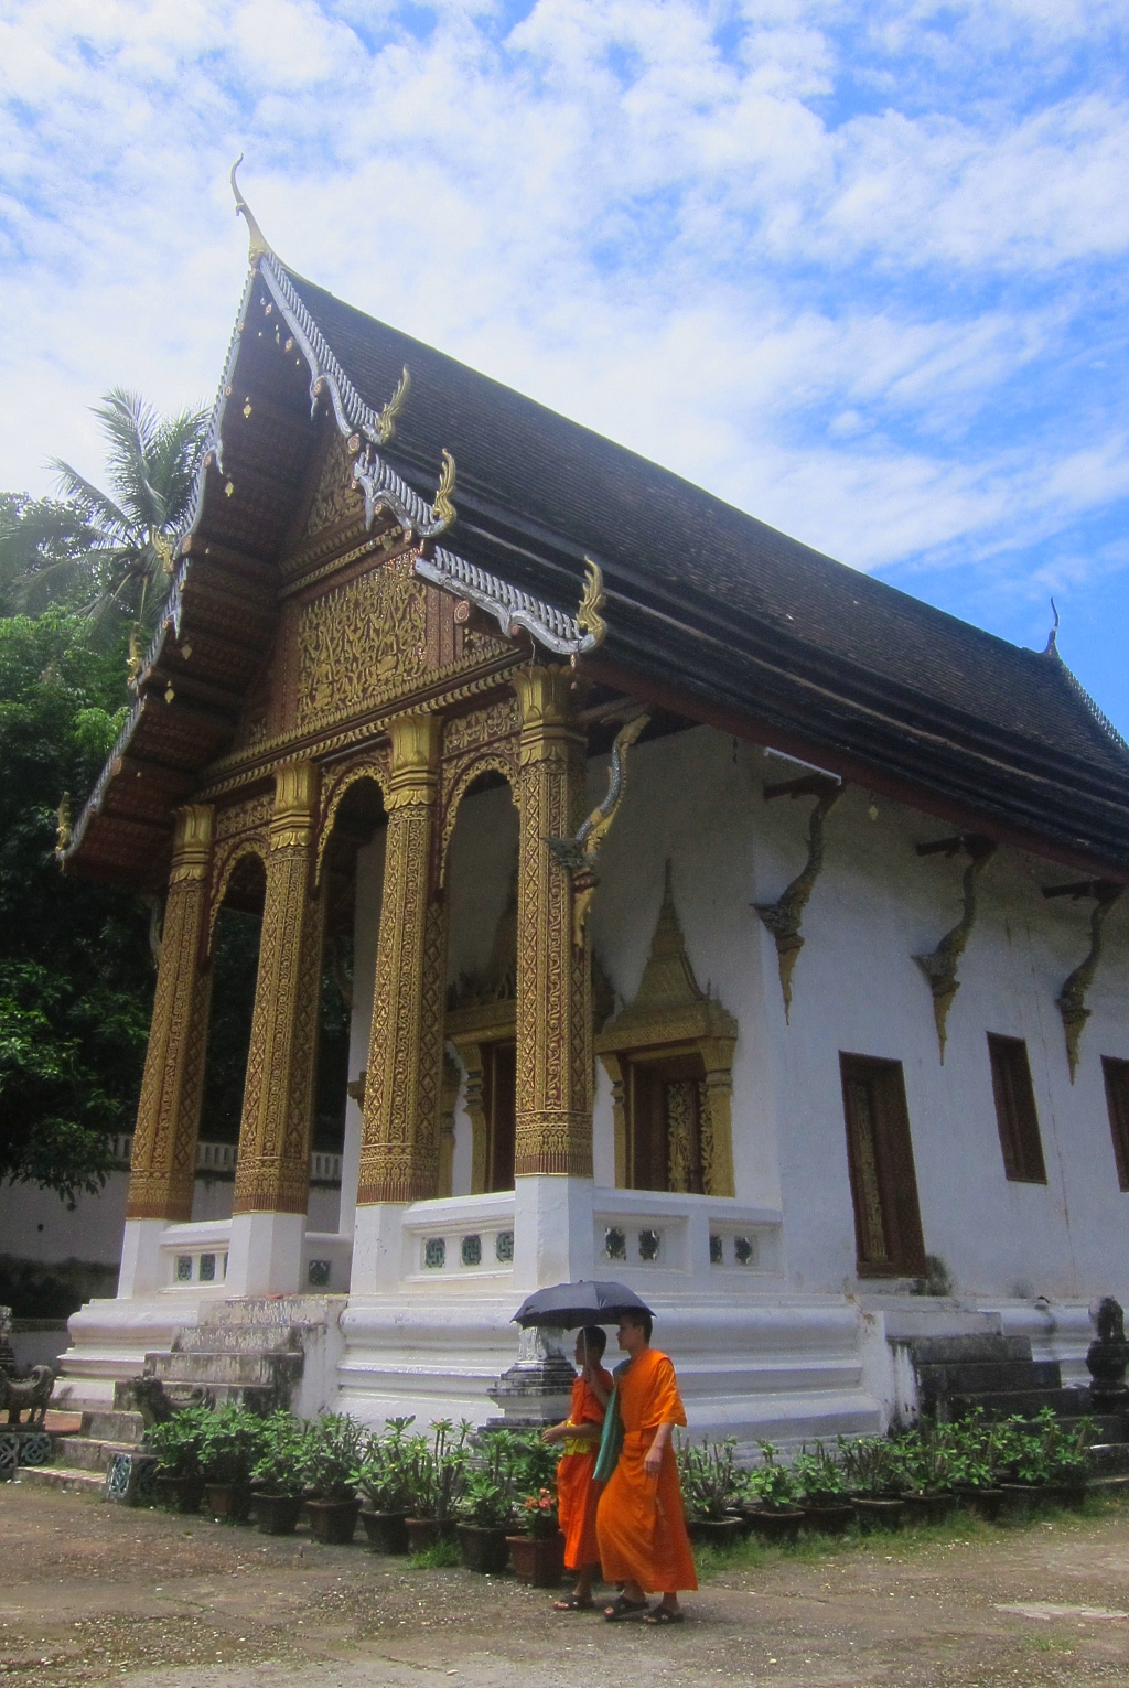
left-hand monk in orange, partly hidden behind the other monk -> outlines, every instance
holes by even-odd
[[[565,1600],[554,1600],[557,1612],[592,1609],[592,1582],[599,1573],[596,1546],[596,1502],[599,1487],[592,1482],[604,1411],[611,1398],[611,1376],[599,1364],[608,1337],[599,1325],[587,1325],[575,1339],[575,1362],[581,1376],[572,1384],[572,1404],[562,1425],[543,1431],[545,1442],[564,1442],[557,1462],[557,1518],[565,1538],[565,1570],[575,1572],[575,1588]]]

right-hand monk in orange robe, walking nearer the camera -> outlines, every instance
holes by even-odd
[[[604,1607],[613,1624],[636,1615],[648,1624],[680,1624],[678,1588],[697,1588],[670,1445],[675,1425],[685,1425],[687,1415],[673,1366],[650,1342],[650,1313],[619,1320],[619,1347],[628,1355],[624,1366],[616,1366],[623,1450],[596,1512],[604,1582],[623,1585],[619,1599]],[[653,1610],[648,1593],[662,1593]]]

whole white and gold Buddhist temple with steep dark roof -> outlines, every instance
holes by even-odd
[[[1129,748],[1053,640],[844,569],[251,233],[61,851],[164,923],[118,1291],[59,1394],[287,1327],[300,1411],[483,1421],[559,1386],[521,1296],[592,1276],[743,1442],[911,1411],[916,1337],[1075,1376],[1129,1291]],[[228,1212],[196,1173],[231,917]]]

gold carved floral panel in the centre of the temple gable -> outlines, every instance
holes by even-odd
[[[427,587],[397,559],[307,604],[297,640],[299,724],[358,716],[424,677]]]

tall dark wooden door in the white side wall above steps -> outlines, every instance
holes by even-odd
[[[847,1161],[862,1278],[921,1278],[925,1239],[898,1060],[840,1055]]]

